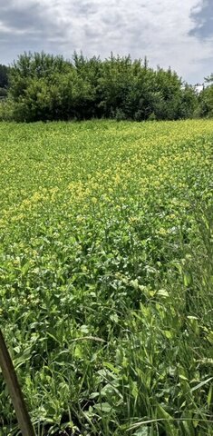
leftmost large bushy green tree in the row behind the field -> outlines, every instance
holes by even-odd
[[[13,64],[9,81],[9,98],[14,103],[15,119],[37,121],[60,119],[63,76],[72,65],[63,56],[52,54],[21,54]]]

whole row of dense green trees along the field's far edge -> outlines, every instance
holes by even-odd
[[[213,115],[213,85],[198,95],[170,68],[150,68],[146,58],[132,61],[131,56],[111,54],[101,60],[74,53],[67,61],[63,56],[25,53],[6,73],[3,87],[8,95],[1,104],[1,119],[143,121]]]

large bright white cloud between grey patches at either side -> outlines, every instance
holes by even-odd
[[[191,11],[199,13],[204,1],[15,0],[14,5],[20,10],[36,5],[45,20],[45,41],[39,45],[38,40],[38,51],[50,49],[66,57],[73,50],[102,57],[111,51],[146,54],[151,66],[170,65],[183,78],[201,80],[210,73],[205,68],[213,58],[213,37],[202,41],[189,32],[195,26]]]

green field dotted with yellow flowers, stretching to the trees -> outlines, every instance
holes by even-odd
[[[36,434],[212,435],[213,121],[1,123],[0,206]]]

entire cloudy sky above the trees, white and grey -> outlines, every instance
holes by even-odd
[[[42,50],[147,55],[196,84],[213,73],[213,0],[0,0],[0,64]]]

